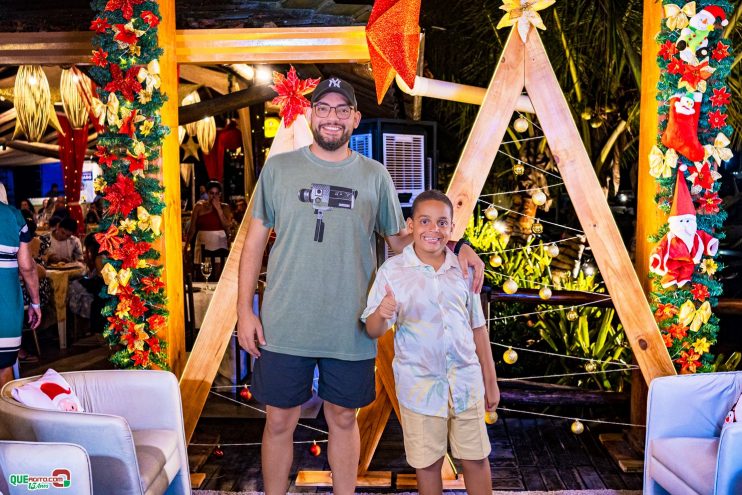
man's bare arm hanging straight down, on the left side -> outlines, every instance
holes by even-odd
[[[240,255],[240,273],[237,285],[237,338],[240,346],[251,356],[260,357],[256,340],[265,345],[263,326],[260,318],[253,312],[253,298],[258,275],[263,264],[263,252],[270,235],[268,227],[257,218],[250,219],[250,226],[245,237]]]

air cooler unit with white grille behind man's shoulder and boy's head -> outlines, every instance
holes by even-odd
[[[435,122],[365,119],[350,138],[351,149],[389,170],[405,215],[418,194],[437,186],[436,131]]]

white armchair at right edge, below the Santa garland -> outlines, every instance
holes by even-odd
[[[721,428],[740,393],[742,372],[652,381],[644,448],[645,494],[742,494],[742,423]]]

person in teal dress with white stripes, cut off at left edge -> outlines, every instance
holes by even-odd
[[[31,328],[41,323],[39,279],[28,241],[31,235],[21,212],[0,204],[0,388],[13,379],[13,364],[18,359],[23,328],[23,278],[31,295],[28,322]]]

